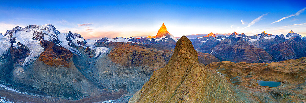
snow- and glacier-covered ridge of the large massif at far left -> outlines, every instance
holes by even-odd
[[[53,25],[46,24],[43,26],[29,25],[25,28],[17,26],[12,30],[7,30],[4,36],[0,37],[0,54],[5,53],[12,45],[10,42],[11,38],[16,38],[13,40],[15,41],[13,46],[17,47],[17,43],[20,42],[27,46],[31,51],[30,56],[25,58],[22,66],[26,66],[29,63],[35,61],[39,57],[40,53],[44,51],[44,48],[40,46],[40,40],[42,39],[53,42],[58,46],[62,46],[78,55],[82,54],[76,49],[76,46],[85,46],[90,47],[91,49],[95,49],[95,57],[99,57],[101,53],[105,53],[109,50],[108,48],[94,46],[96,41],[88,40],[88,44],[88,42],[80,34],[72,32],[60,33]]]

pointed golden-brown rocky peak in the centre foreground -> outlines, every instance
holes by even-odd
[[[169,63],[129,102],[234,102],[240,101],[224,77],[200,65],[191,41],[177,41]]]

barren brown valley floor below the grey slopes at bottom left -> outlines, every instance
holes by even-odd
[[[12,91],[4,87],[0,87],[0,102],[33,102],[33,103],[92,103],[92,102],[111,102],[114,101],[121,101],[121,102],[128,102],[131,94],[122,94],[123,92],[115,92],[115,93],[107,93],[107,94],[99,94],[96,96],[91,96],[87,98],[83,98],[80,100],[67,100],[64,98],[57,98],[57,97],[44,97],[44,96],[33,96],[28,94],[23,94],[20,92]]]

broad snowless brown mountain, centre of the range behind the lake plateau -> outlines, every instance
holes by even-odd
[[[217,46],[211,48],[211,51],[211,54],[221,61],[249,63],[276,61],[265,50],[248,45],[241,37],[222,40]]]

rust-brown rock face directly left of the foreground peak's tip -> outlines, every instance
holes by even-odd
[[[172,53],[171,51],[154,49],[122,43],[115,45],[108,57],[124,67],[152,66],[162,68],[168,63]]]

